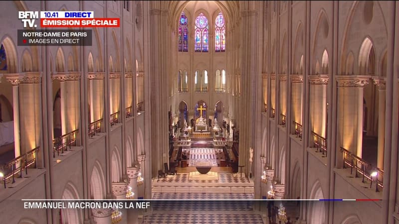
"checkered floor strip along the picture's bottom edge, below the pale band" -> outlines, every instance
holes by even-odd
[[[263,224],[260,215],[236,214],[153,214],[146,216],[143,224]]]

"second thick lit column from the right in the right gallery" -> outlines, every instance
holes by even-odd
[[[309,76],[309,84],[310,130],[326,138],[328,75]]]

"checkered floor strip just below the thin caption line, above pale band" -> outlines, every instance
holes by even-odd
[[[247,201],[159,201],[151,206],[153,211],[252,211]]]

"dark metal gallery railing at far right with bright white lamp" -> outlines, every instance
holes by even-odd
[[[376,192],[379,192],[380,189],[384,188],[384,170],[373,166],[362,158],[359,158],[344,147],[341,147],[341,152],[344,157],[344,169],[351,168],[351,174],[355,171],[355,178],[362,177],[363,183],[370,181],[370,188],[372,188],[373,181],[376,181]]]

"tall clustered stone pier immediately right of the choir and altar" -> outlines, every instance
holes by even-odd
[[[239,82],[238,92],[240,95],[239,99],[239,114],[243,119],[239,119],[238,126],[240,131],[239,136],[239,149],[238,149],[238,165],[244,166],[243,172],[248,176],[251,173],[252,167],[249,161],[249,150],[255,147],[255,130],[258,128],[256,124],[256,118],[260,116],[257,114],[256,105],[261,103],[258,100],[260,97],[261,85],[258,74],[258,10],[259,1],[253,1],[252,4],[245,4],[240,2],[240,24],[239,30],[241,32],[240,38],[240,70],[238,77]],[[259,81],[258,81],[259,80]],[[259,93],[259,94],[257,94]],[[259,150],[256,149],[255,150]],[[254,154],[257,152],[255,151]],[[257,161],[257,160],[255,160]],[[255,164],[256,165],[256,164]]]

